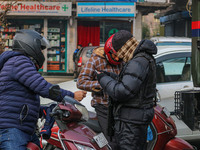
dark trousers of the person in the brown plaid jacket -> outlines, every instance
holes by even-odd
[[[108,140],[109,145],[111,146],[112,150],[120,150],[117,147],[115,136],[112,137],[112,142],[110,141],[110,137],[107,136],[107,127],[108,127],[108,108],[102,104],[95,104],[94,106],[95,111],[97,113],[98,121],[101,126],[101,130],[105,135],[106,139]]]

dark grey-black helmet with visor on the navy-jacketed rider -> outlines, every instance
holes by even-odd
[[[45,37],[34,30],[28,29],[17,31],[12,45],[14,51],[23,52],[31,57],[39,68],[42,67],[45,60],[42,50],[49,47],[49,42]]]

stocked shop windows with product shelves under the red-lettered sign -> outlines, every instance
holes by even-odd
[[[5,50],[12,49],[12,42],[15,32],[21,29],[32,29],[41,34],[44,34],[43,19],[9,19],[8,28],[0,27],[5,42]],[[51,49],[47,50],[47,71],[48,72],[66,72],[66,28],[67,21],[58,19],[48,20],[48,35],[47,39],[50,42]],[[43,71],[40,69],[39,71]]]

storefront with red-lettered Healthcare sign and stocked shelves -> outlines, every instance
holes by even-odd
[[[12,48],[16,31],[36,30],[47,37],[52,47],[44,51],[45,63],[40,72],[67,72],[67,27],[71,5],[71,2],[17,2],[9,12],[8,28],[0,28],[6,39],[6,50]],[[1,2],[0,10],[4,7],[6,2]]]

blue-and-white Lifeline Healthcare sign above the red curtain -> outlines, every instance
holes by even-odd
[[[78,17],[134,17],[135,3],[78,2]]]

